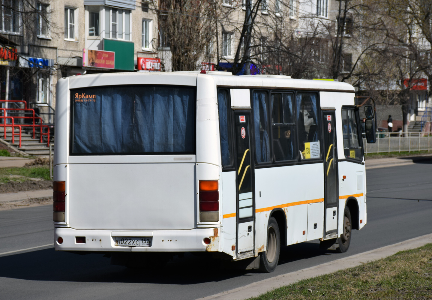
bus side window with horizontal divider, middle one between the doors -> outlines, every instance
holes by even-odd
[[[293,98],[294,95],[291,93],[272,93],[271,95],[273,157],[275,161],[297,159]]]

